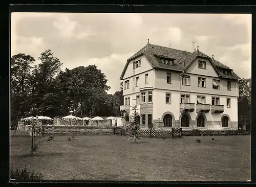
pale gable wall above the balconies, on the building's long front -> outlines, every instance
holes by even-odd
[[[206,62],[206,68],[199,68],[198,64],[199,61]],[[186,73],[192,73],[192,74],[198,74],[198,75],[203,75],[203,76],[211,76],[211,77],[219,77],[219,74],[212,65],[211,61],[206,58],[202,57],[197,57],[191,62],[191,64],[187,67]]]

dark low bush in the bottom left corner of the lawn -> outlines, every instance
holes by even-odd
[[[28,171],[27,166],[25,168],[16,168],[16,170],[11,167],[10,178],[18,181],[38,181],[42,180],[42,174],[35,174],[34,172]]]

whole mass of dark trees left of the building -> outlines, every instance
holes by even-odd
[[[79,66],[61,71],[62,63],[51,50],[35,59],[30,55],[17,54],[11,58],[11,124],[31,115],[119,115],[123,104],[122,87],[114,95],[108,94],[108,79],[96,65]],[[122,86],[122,84],[120,84]],[[32,107],[33,106],[33,107]],[[34,116],[35,116],[34,115]]]

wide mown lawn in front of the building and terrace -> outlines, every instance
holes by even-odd
[[[142,138],[137,144],[125,136],[67,136],[40,144],[38,157],[30,153],[31,137],[11,132],[11,166],[40,172],[46,180],[250,180],[250,135],[195,136],[182,139]]]

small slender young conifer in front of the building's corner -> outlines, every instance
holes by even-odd
[[[140,139],[140,134],[139,134],[139,129],[140,129],[140,122],[139,122],[139,114],[138,112],[136,112],[137,110],[137,106],[135,105],[134,107],[132,107],[134,110],[134,112],[132,113],[132,123],[129,127],[129,130],[127,131],[128,134],[128,141],[132,138],[134,138],[134,143],[136,143],[136,138]]]

